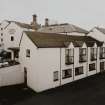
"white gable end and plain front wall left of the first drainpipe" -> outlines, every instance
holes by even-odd
[[[30,49],[31,57],[26,57],[26,49]],[[27,67],[28,86],[39,92],[49,88],[55,88],[60,84],[53,81],[53,72],[60,73],[60,49],[36,48],[27,35],[23,35],[20,46],[20,63],[22,69]],[[59,75],[60,76],[60,75]]]

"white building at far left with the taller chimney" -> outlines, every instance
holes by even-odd
[[[40,28],[37,23],[37,16],[33,15],[33,21],[31,24],[16,22],[16,21],[3,21],[1,27],[1,49],[7,52],[11,52],[12,59],[14,56],[18,56],[20,40],[23,31],[36,31]]]

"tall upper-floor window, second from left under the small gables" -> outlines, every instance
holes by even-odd
[[[86,48],[80,48],[79,49],[79,62],[86,62],[87,56],[86,56]]]

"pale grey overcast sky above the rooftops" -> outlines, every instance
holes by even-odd
[[[0,0],[0,21],[30,23],[33,14],[40,24],[49,18],[90,30],[105,27],[105,0]]]

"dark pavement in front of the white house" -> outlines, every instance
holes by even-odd
[[[41,93],[22,86],[0,88],[0,105],[105,105],[105,73]]]

